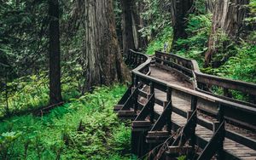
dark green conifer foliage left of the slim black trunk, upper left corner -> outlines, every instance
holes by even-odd
[[[38,70],[38,66],[44,64],[45,56],[41,53],[47,49],[45,2],[8,0],[0,3],[0,62],[3,60],[2,63],[12,66],[13,75]]]

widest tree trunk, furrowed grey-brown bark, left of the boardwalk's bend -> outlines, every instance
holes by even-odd
[[[112,0],[85,0],[84,91],[129,77],[117,40]]]

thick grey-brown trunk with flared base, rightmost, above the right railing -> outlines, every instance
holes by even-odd
[[[205,55],[206,66],[210,66],[212,56],[218,52],[219,32],[232,40],[236,40],[236,37],[238,37],[247,14],[245,4],[248,4],[248,0],[216,0],[212,17],[212,32]]]

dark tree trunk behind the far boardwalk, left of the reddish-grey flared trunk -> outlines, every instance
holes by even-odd
[[[171,15],[173,27],[173,41],[187,37],[186,18],[193,6],[193,0],[171,0]]]

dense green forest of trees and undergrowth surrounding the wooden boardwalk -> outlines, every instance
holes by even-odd
[[[0,159],[130,158],[128,49],[256,83],[255,0],[0,2]]]

